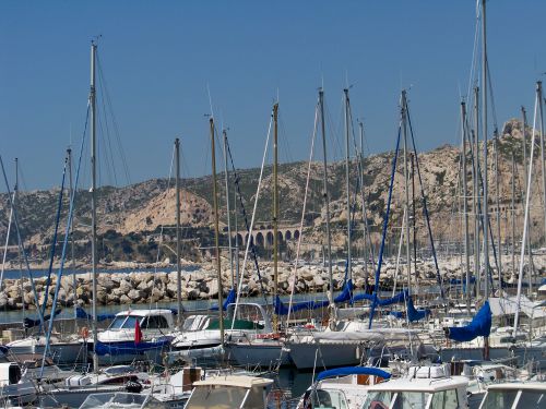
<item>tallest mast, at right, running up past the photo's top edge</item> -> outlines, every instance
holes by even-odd
[[[482,0],[482,137],[484,139],[484,298],[489,298],[489,195],[487,188],[488,169],[487,169],[487,31],[485,15],[486,0]]]

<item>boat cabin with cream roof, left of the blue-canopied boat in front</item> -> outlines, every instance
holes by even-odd
[[[193,383],[194,388],[186,404],[186,409],[265,409],[268,393],[272,384],[272,380],[256,376],[210,377]]]

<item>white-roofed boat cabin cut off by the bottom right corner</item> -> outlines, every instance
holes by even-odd
[[[489,385],[479,409],[535,409],[546,407],[545,382]]]

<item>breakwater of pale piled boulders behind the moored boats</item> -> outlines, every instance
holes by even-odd
[[[505,262],[508,265],[508,260]],[[535,270],[537,276],[546,273],[546,256],[535,257]],[[322,265],[305,265],[297,268],[297,277],[293,279],[295,266],[283,263],[278,274],[278,293],[287,294],[292,290],[290,282],[295,282],[296,293],[325,292],[329,288],[329,273]],[[444,282],[451,278],[461,278],[461,264],[459,258],[444,261],[440,265],[440,272]],[[242,281],[241,294],[245,297],[256,297],[262,291],[273,292],[273,267],[270,263],[263,263],[260,272],[261,280],[256,272],[247,274]],[[395,272],[395,263],[387,261],[381,270],[381,287],[392,288],[397,276],[399,286],[406,286],[405,266],[399,267]],[[434,263],[419,262],[417,274],[412,273],[413,280],[417,277],[420,287],[435,286],[437,282],[436,268]],[[222,272],[222,282],[224,292],[227,293],[232,287],[232,275],[228,269]],[[345,277],[344,266],[333,266],[333,287],[335,291],[342,289]],[[353,281],[357,290],[363,290],[368,284],[373,282],[373,270],[368,266],[368,272],[361,264],[353,266]],[[182,272],[182,300],[210,300],[218,296],[218,282],[216,272],[212,264],[200,265],[193,272]],[[505,268],[503,279],[507,282],[515,282],[515,275]],[[494,273],[494,280],[498,280],[498,275]],[[414,286],[416,281],[413,281]],[[51,277],[49,284],[47,305],[51,306],[57,277]],[[46,299],[47,277],[34,279],[38,302],[44,303]],[[97,302],[102,305],[114,304],[144,304],[156,302],[170,302],[177,300],[177,273],[176,272],[132,272],[132,273],[100,273],[97,278]],[[75,290],[74,290],[75,289]],[[92,276],[91,273],[78,274],[74,276],[63,276],[61,278],[58,303],[62,306],[71,306],[74,303],[84,305],[91,303]],[[28,278],[4,279],[0,291],[0,311],[20,310],[23,308],[35,308],[35,296]]]

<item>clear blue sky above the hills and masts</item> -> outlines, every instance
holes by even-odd
[[[532,111],[535,81],[546,71],[545,16],[544,0],[488,2],[500,123],[521,105]],[[354,85],[354,116],[364,118],[372,153],[393,147],[400,91],[411,85],[419,148],[456,143],[474,27],[474,0],[3,0],[0,154],[10,168],[21,158],[27,189],[60,184],[70,130],[76,143],[84,124],[97,34],[133,182],[168,175],[176,136],[186,176],[210,173],[207,84],[241,168],[260,164],[277,93],[282,159],[308,156],[322,81],[339,130],[346,79]],[[337,145],[332,159],[343,154]]]

